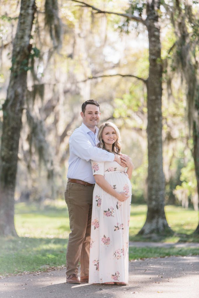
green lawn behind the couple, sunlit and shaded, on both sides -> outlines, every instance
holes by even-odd
[[[192,209],[166,206],[166,217],[174,235],[156,238],[162,242],[199,242],[192,232],[198,224],[198,212]],[[132,205],[129,239],[149,241],[137,236],[146,219],[145,205]],[[16,204],[15,226],[19,238],[1,238],[0,275],[25,271],[44,271],[48,267],[65,265],[65,253],[70,233],[68,212],[64,201],[44,205]],[[199,254],[194,248],[130,247],[129,259]]]

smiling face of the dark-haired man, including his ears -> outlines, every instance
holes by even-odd
[[[100,121],[100,109],[96,105],[86,105],[85,113],[81,112],[83,123],[88,128],[94,128]]]

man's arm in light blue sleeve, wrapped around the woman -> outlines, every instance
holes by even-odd
[[[87,162],[90,159],[96,162],[113,162],[114,160],[117,162],[120,161],[120,158],[113,153],[94,147],[81,132],[74,132],[69,143],[71,151],[81,159],[85,159]]]

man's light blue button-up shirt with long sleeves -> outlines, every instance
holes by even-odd
[[[88,183],[95,183],[91,160],[96,162],[113,162],[114,154],[95,147],[98,128],[94,134],[84,123],[76,128],[69,139],[69,167],[67,178],[79,179]]]

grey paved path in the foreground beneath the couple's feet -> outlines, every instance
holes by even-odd
[[[146,243],[145,243],[146,244]],[[0,298],[198,298],[199,255],[131,261],[128,286],[70,285],[65,269],[6,277]]]

